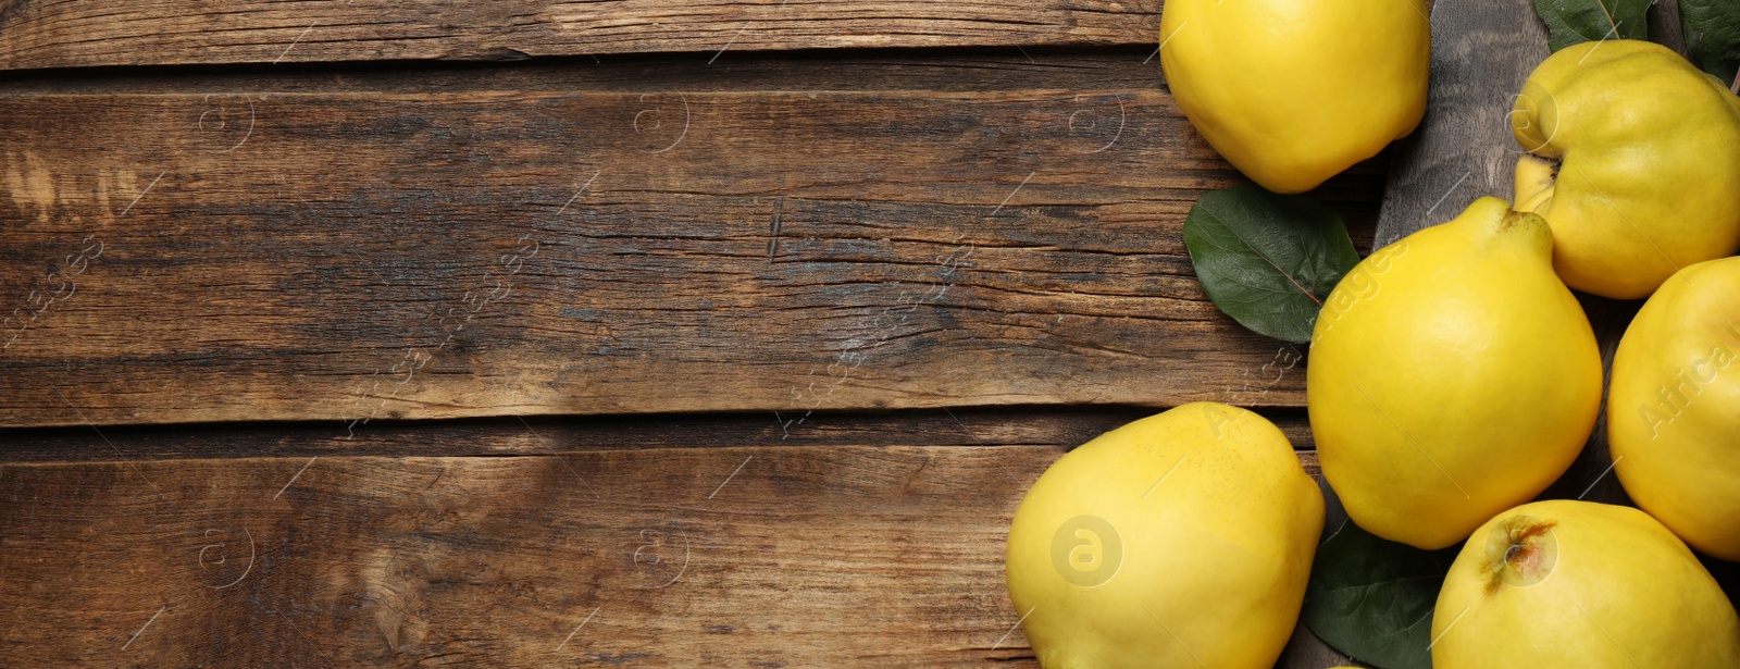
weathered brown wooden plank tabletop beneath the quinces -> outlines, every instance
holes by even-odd
[[[0,664],[1035,667],[1002,544],[1070,446],[1211,399],[1315,472],[1157,24],[0,5]],[[1362,249],[1411,155],[1315,193]]]

